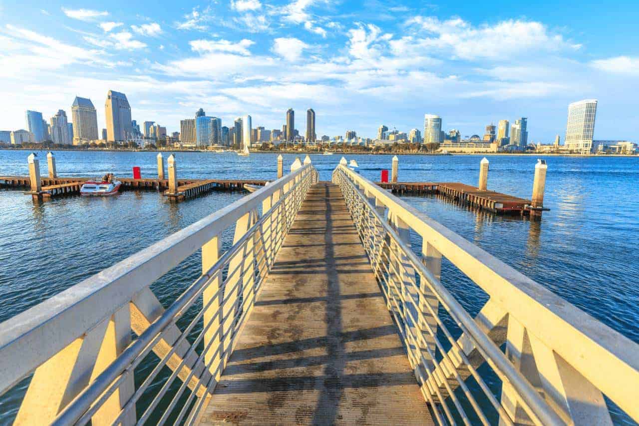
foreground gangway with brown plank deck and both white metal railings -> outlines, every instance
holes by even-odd
[[[194,253],[163,306],[151,284]],[[8,391],[20,425],[612,425],[607,401],[639,421],[639,345],[348,167],[300,162],[0,324]]]

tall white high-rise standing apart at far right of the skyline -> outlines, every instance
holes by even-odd
[[[597,100],[584,99],[568,106],[568,120],[564,146],[578,154],[589,154],[594,146],[592,136],[595,131]]]

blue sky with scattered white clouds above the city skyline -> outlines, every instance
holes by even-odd
[[[199,108],[281,129],[293,107],[304,134],[312,107],[318,136],[523,116],[529,142],[563,143],[568,104],[594,98],[595,139],[636,141],[639,6],[614,3],[0,0],[0,130],[26,109],[70,116],[75,96],[105,127],[115,90],[169,132]]]

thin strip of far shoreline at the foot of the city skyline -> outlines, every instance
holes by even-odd
[[[198,153],[210,153],[210,154],[226,154],[220,152],[213,152],[210,150],[180,150],[180,149],[167,149],[167,150],[140,150],[140,149],[119,149],[119,150],[111,150],[111,149],[60,149],[60,148],[0,148],[0,151],[74,151],[74,152],[198,152]],[[232,152],[232,151],[229,151]],[[357,151],[330,151],[334,155],[425,155],[425,156],[450,156],[450,155],[511,155],[514,157],[534,157],[534,156],[547,156],[547,157],[582,157],[582,158],[635,158],[639,157],[639,154],[605,154],[605,155],[583,155],[583,154],[551,154],[551,153],[541,153],[541,152],[449,152],[447,154],[442,154],[438,152],[357,152]],[[251,154],[316,154],[323,155],[324,151],[311,151],[311,150],[301,150],[301,151],[283,151],[283,150],[252,150]]]

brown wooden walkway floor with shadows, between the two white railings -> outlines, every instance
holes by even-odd
[[[311,188],[201,424],[432,424],[339,187]]]

